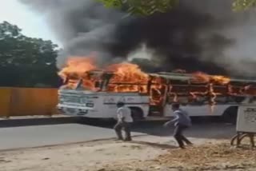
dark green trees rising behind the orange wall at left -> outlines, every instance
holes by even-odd
[[[9,22],[0,23],[0,85],[57,86],[58,46],[21,31]]]

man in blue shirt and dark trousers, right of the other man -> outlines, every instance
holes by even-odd
[[[190,142],[186,137],[183,135],[183,131],[187,128],[189,128],[191,124],[191,119],[189,115],[186,113],[186,111],[180,109],[178,103],[174,103],[172,105],[172,109],[174,111],[174,119],[171,121],[166,122],[164,125],[165,127],[171,125],[174,123],[175,129],[174,129],[174,138],[178,142],[178,145],[180,148],[184,149],[184,142],[187,145],[192,145],[192,142]]]

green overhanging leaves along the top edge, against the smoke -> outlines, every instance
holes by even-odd
[[[125,10],[129,14],[150,15],[165,13],[178,5],[179,0],[96,0],[106,7]],[[224,1],[224,0],[223,0]],[[256,0],[234,0],[233,10],[247,10],[256,5]]]

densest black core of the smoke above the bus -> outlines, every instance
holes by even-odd
[[[109,49],[114,56],[126,57],[141,42],[146,42],[150,49],[156,51],[155,58],[158,58],[158,54],[162,57],[158,70],[178,68],[189,72],[202,70],[226,74],[226,69],[215,61],[223,57],[226,48],[234,45],[234,40],[213,31],[218,22],[210,14],[199,14],[182,7],[168,14],[122,22],[114,35],[118,42]],[[206,32],[206,38],[200,38],[203,32]]]

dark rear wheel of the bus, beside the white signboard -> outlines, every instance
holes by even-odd
[[[237,123],[238,117],[238,106],[230,106],[225,112],[222,114],[222,118],[226,123],[231,123],[235,125]]]

